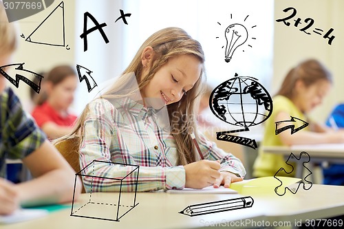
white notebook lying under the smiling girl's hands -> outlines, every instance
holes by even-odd
[[[170,193],[170,194],[236,194],[237,191],[230,188],[225,188],[224,186],[219,186],[219,188],[208,186],[202,189],[195,189],[195,188],[170,189],[170,190],[166,190],[166,193]]]

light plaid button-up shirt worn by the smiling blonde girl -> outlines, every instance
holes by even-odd
[[[175,140],[166,131],[166,125],[164,127],[166,119],[161,117],[157,115],[157,110],[144,107],[131,98],[111,102],[99,98],[90,102],[80,145],[80,167],[85,168],[82,171],[85,190],[118,191],[118,182],[100,177],[125,177],[131,169],[131,166],[111,163],[87,166],[94,160],[140,166],[138,191],[184,188],[184,166],[177,164]],[[244,166],[234,155],[218,149],[215,143],[208,142],[202,135],[198,143],[205,159],[221,160],[220,171],[230,171],[244,177]],[[123,179],[121,190],[135,191],[135,184],[136,177],[131,174]]]

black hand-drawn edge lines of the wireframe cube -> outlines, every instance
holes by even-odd
[[[100,176],[94,176],[94,175],[85,175],[83,174],[83,171],[88,168],[89,166],[94,166],[94,163],[96,162],[100,162],[100,163],[106,163],[106,164],[118,164],[118,165],[122,165],[122,166],[133,166],[133,170],[131,170],[129,173],[127,173],[127,175],[125,175],[125,177],[122,178],[113,178],[113,177],[100,177]],[[99,160],[93,160],[91,163],[87,164],[87,166],[85,166],[83,169],[81,169],[78,173],[75,174],[75,179],[74,179],[74,192],[73,192],[73,201],[72,201],[72,210],[71,210],[71,214],[70,216],[73,217],[83,217],[83,218],[89,218],[89,219],[102,219],[102,220],[108,220],[108,221],[120,221],[120,218],[122,218],[124,215],[126,215],[130,210],[132,210],[133,208],[135,208],[136,206],[138,206],[139,203],[136,203],[136,194],[137,194],[137,190],[138,190],[138,174],[140,171],[140,166],[138,165],[134,165],[134,164],[122,164],[122,163],[116,163],[116,162],[105,162],[105,161],[99,161]],[[135,182],[135,193],[134,193],[134,197],[133,197],[133,204],[130,206],[125,206],[125,205],[121,205],[121,201],[120,201],[120,196],[122,193],[122,182],[125,178],[127,178],[129,175],[136,173],[136,182]],[[118,182],[120,182],[120,191],[118,192],[118,202],[116,204],[107,204],[107,203],[95,203],[92,201],[92,192],[89,193],[89,201],[84,204],[83,206],[81,206],[80,208],[78,208],[78,210],[76,210],[77,207],[74,206],[74,198],[75,198],[75,190],[76,190],[76,179],[78,176],[81,177],[92,177],[92,183],[93,183],[93,177],[95,178],[100,178],[100,179],[113,179],[113,180],[117,180]],[[98,206],[114,206],[114,208],[116,209],[116,216],[114,217],[114,219],[109,219],[109,218],[105,218],[105,217],[92,217],[92,216],[87,216],[87,215],[76,215],[76,212],[78,212],[81,208],[89,205],[89,204],[98,204]],[[120,215],[120,207],[127,207],[129,210],[126,210],[124,213],[122,213]]]

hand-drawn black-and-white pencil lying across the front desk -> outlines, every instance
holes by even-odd
[[[237,210],[242,208],[250,208],[253,206],[252,197],[239,197],[235,199],[225,199],[219,201],[212,201],[202,204],[192,204],[187,206],[179,212],[183,215],[189,215],[191,217],[198,215],[206,215],[215,212],[224,212],[227,210]]]

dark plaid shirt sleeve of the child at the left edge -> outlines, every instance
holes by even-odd
[[[7,158],[23,159],[46,138],[10,87],[0,95],[0,106],[0,177],[6,177]]]

